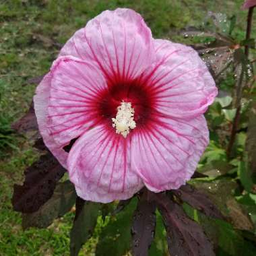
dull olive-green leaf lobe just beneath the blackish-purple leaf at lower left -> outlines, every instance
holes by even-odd
[[[60,218],[75,204],[75,188],[70,181],[58,183],[53,196],[46,201],[37,212],[32,214],[23,214],[23,228],[32,226],[37,228],[47,228],[53,223],[53,220]]]

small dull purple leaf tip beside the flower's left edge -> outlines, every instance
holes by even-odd
[[[38,130],[33,103],[30,105],[28,112],[21,119],[13,123],[11,128],[15,131],[18,131],[18,133],[26,133],[28,131]]]

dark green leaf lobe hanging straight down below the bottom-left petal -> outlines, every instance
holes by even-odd
[[[92,236],[102,205],[77,197],[75,207],[75,220],[70,232],[71,256],[77,256],[82,245]]]

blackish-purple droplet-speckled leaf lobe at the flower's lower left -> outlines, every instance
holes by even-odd
[[[18,212],[36,212],[53,195],[65,168],[48,152],[25,170],[23,185],[14,185],[12,204]]]

